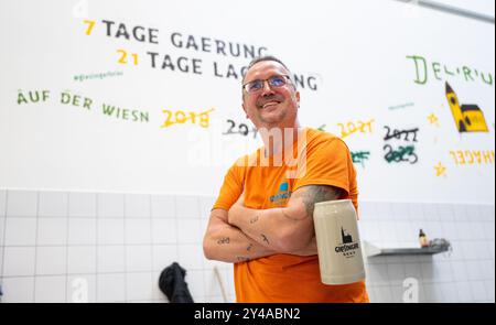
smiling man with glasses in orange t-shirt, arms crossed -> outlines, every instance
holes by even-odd
[[[356,172],[341,139],[300,127],[290,75],[273,56],[247,68],[242,108],[265,145],[228,170],[205,256],[235,264],[237,302],[368,302],[363,281],[321,282],[313,208],[344,198],[357,208]]]

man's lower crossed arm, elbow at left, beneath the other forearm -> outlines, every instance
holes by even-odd
[[[227,212],[214,209],[203,240],[203,251],[207,259],[228,263],[245,262],[278,253],[246,236],[238,228],[227,224]],[[315,239],[305,248],[293,252],[298,256],[316,253]]]

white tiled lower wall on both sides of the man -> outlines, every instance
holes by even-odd
[[[3,302],[166,302],[158,288],[179,262],[196,302],[234,301],[233,266],[207,261],[202,240],[214,197],[0,191]],[[402,302],[407,278],[420,302],[495,301],[494,206],[360,204],[360,237],[414,247],[422,228],[451,253],[365,260],[371,302]]]

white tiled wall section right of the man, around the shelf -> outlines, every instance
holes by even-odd
[[[408,243],[416,247],[418,231],[422,228],[430,239],[446,238],[452,243],[451,253],[402,257],[405,277],[419,280],[421,302],[494,302],[494,290],[483,285],[485,281],[494,282],[494,236],[492,238],[490,235],[494,234],[494,206],[397,203],[391,205],[395,216],[392,227],[389,224],[391,220],[384,217],[387,208],[380,205],[388,204],[375,205],[376,210],[382,214],[380,217],[362,214],[362,239],[378,246],[405,247]],[[397,219],[401,210],[405,212],[401,205],[408,207],[409,225],[401,218]],[[369,208],[369,205],[365,206]],[[387,234],[391,228],[396,229],[397,238]],[[411,237],[416,240],[411,241]],[[382,257],[366,260],[367,284],[373,302],[395,302],[405,292],[403,289],[397,291],[396,283],[401,280],[402,273],[396,259]]]

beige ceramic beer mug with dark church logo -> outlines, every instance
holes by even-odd
[[[364,259],[352,201],[316,203],[313,224],[322,283],[336,285],[364,280]]]

